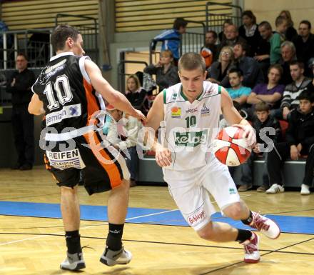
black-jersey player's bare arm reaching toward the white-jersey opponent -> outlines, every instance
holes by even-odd
[[[128,99],[126,99],[126,96],[121,94],[119,91],[116,91],[110,84],[108,84],[108,81],[106,81],[106,79],[104,79],[101,75],[101,70],[95,63],[93,63],[93,61],[86,59],[85,69],[91,79],[91,84],[96,91],[98,91],[101,96],[106,99],[106,101],[115,106],[118,110],[124,111],[137,119],[141,119],[142,121],[146,120],[141,111],[133,108]]]

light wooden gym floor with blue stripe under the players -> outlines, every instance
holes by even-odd
[[[73,274],[59,269],[66,255],[61,219],[39,217],[41,212],[45,213],[47,204],[54,207],[59,204],[59,187],[51,175],[43,166],[36,166],[32,171],[0,169],[0,189],[0,209],[4,211],[0,213],[0,274]],[[129,202],[133,218],[128,218],[123,234],[123,243],[133,254],[131,263],[113,267],[101,264],[99,256],[108,230],[106,221],[83,220],[80,233],[81,243],[86,246],[83,249],[86,269],[79,274],[313,275],[314,195],[300,196],[296,191],[276,195],[248,191],[240,195],[251,209],[280,215],[286,231],[291,231],[282,233],[277,240],[259,234],[262,258],[258,264],[243,263],[243,248],[236,242],[203,241],[188,226],[168,225],[183,222],[178,218],[168,189],[136,186],[131,189]],[[79,196],[80,203],[88,208],[106,204],[108,194],[88,196],[80,186]],[[39,214],[27,216],[32,213],[29,209],[32,206],[36,206]],[[164,213],[168,216],[163,216]],[[176,215],[169,216],[171,213]],[[158,216],[160,219],[153,221]],[[292,233],[294,229],[290,230],[290,225],[296,231],[310,233]]]

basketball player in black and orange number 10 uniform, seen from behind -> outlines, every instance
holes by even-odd
[[[57,26],[51,34],[51,45],[56,56],[32,86],[29,113],[45,114],[46,168],[61,187],[67,257],[60,267],[68,270],[85,267],[78,233],[80,172],[88,194],[110,190],[108,237],[100,261],[108,266],[128,264],[132,255],[123,248],[121,238],[128,206],[129,173],[123,157],[116,154],[113,146],[102,146],[103,99],[137,119],[146,118],[103,79],[88,56],[83,56],[83,39],[76,29]]]

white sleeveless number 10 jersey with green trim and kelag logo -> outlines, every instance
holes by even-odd
[[[212,139],[218,134],[221,86],[203,82],[203,92],[190,103],[182,84],[163,90],[161,141],[172,152],[166,169],[187,170],[206,165]]]

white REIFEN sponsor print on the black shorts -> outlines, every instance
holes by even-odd
[[[68,168],[83,169],[85,164],[78,149],[62,152],[46,151],[50,166],[64,170]]]

